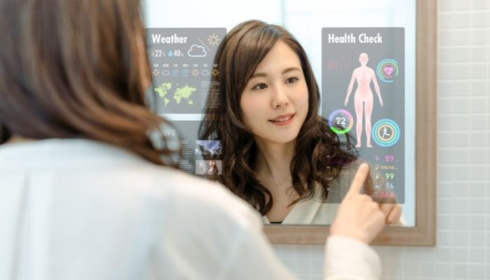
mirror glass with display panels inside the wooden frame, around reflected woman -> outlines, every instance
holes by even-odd
[[[236,5],[216,0],[145,1],[154,78],[150,103],[183,137],[181,168],[197,175],[214,169],[221,172],[221,162],[202,158],[205,153],[220,153],[220,144],[197,139],[204,99],[211,88],[213,57],[221,38],[235,25],[263,20],[285,27],[306,50],[321,90],[318,113],[334,131],[337,127],[341,137],[349,132],[360,139],[358,151],[361,159],[370,162],[375,193],[396,197],[402,205],[403,225],[413,227],[416,2],[249,0],[239,9]],[[362,77],[368,73],[374,74],[363,92]],[[362,100],[363,96],[370,99]],[[369,118],[371,124],[365,121]],[[348,187],[351,176],[349,169],[337,181]],[[332,202],[339,202],[342,192],[337,197],[333,192]],[[311,224],[311,218],[305,217],[311,211],[328,212],[325,223],[318,224],[326,225],[335,216],[335,203],[312,200],[296,206],[284,223],[289,219],[293,224]]]

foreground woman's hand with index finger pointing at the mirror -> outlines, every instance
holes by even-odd
[[[386,220],[384,211],[371,197],[360,194],[368,173],[369,166],[360,165],[332,223],[332,235],[343,235],[369,244],[383,230]]]

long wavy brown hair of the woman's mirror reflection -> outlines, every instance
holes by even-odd
[[[321,195],[325,200],[330,182],[337,178],[342,167],[357,158],[351,137],[347,135],[346,140],[341,141],[330,130],[328,122],[318,116],[320,92],[300,43],[277,25],[257,20],[237,25],[223,38],[216,53],[214,64],[219,75],[211,84],[218,87],[214,90],[219,92],[221,106],[213,106],[214,99],[208,100],[200,139],[222,141],[223,172],[214,174],[211,179],[223,183],[262,215],[271,209],[273,200],[256,176],[258,148],[253,133],[242,122],[240,99],[258,64],[279,40],[288,44],[300,58],[309,92],[307,117],[297,136],[295,156],[290,163],[292,188],[300,195],[295,202],[314,197],[315,182],[323,186]]]

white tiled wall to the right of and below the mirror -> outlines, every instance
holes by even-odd
[[[490,279],[490,1],[437,5],[437,246],[376,247],[384,279]],[[323,246],[274,248],[322,279]]]

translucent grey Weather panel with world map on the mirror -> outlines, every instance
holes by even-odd
[[[159,114],[202,114],[213,88],[213,65],[225,28],[148,28],[146,43],[153,75],[153,109]],[[219,106],[218,98],[216,104]]]

